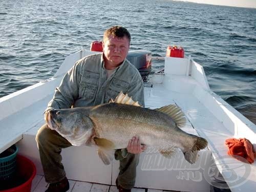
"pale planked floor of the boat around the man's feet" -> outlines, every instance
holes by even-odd
[[[90,183],[69,180],[70,189],[68,192],[118,192],[115,185],[103,185],[99,183]],[[47,183],[45,182],[44,176],[36,175],[31,187],[31,192],[42,192],[47,189]],[[148,188],[133,188],[132,192],[163,192],[174,190],[158,190],[158,189],[148,189]],[[175,191],[179,192],[179,191]],[[181,191],[182,192],[182,191]]]

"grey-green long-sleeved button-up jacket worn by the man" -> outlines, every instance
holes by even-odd
[[[107,78],[102,53],[90,55],[78,60],[66,73],[46,111],[108,103],[120,91],[144,106],[143,80],[127,59]]]

